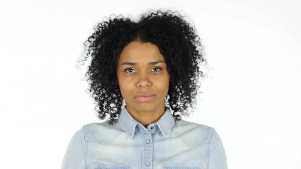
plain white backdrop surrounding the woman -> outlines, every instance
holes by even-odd
[[[231,169],[301,168],[300,2],[266,0],[2,1],[0,168],[61,167],[74,132],[102,122],[75,66],[92,27],[159,8],[189,16],[212,68],[184,119],[216,129]]]

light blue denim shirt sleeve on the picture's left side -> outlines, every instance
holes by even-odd
[[[83,127],[71,137],[65,152],[62,169],[85,169],[86,141]]]

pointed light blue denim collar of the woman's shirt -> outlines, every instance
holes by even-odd
[[[158,125],[158,127],[161,130],[161,132],[163,133],[163,135],[167,136],[167,134],[171,131],[171,129],[174,125],[175,118],[171,114],[170,108],[166,107],[166,106],[165,106],[165,108],[166,108],[166,110],[165,110],[164,114],[161,116],[161,118],[157,122],[155,122],[155,124]],[[134,135],[137,124],[142,126],[142,124],[140,124],[139,122],[137,122],[135,119],[132,118],[132,116],[126,110],[126,106],[123,106],[123,108],[121,109],[121,112],[118,117],[118,121],[121,123],[121,126],[123,126],[123,129],[129,136],[129,138],[132,138],[132,136]]]

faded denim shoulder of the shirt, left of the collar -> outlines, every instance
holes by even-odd
[[[82,127],[86,142],[109,144],[122,133],[119,123],[109,125],[107,121],[89,123]]]

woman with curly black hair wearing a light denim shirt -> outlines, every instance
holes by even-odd
[[[197,38],[169,11],[98,24],[86,41],[87,75],[98,117],[110,119],[75,132],[62,169],[227,168],[215,129],[176,114],[196,103],[206,62]]]

